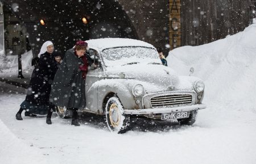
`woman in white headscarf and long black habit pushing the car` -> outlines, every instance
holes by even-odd
[[[23,110],[25,110],[25,116],[36,116],[35,114],[46,115],[48,108],[54,107],[49,103],[49,94],[57,70],[57,62],[53,56],[52,42],[46,41],[43,47],[44,52],[39,54],[38,65],[35,66],[31,75],[26,99],[20,104],[20,109],[16,113],[17,120],[23,120],[21,116]]]

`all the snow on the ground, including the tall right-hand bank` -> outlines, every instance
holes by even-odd
[[[54,117],[15,120],[25,90],[0,83],[0,163],[256,163],[256,24],[199,47],[171,51],[181,75],[205,81],[204,103],[192,126],[151,125],[114,134],[101,118],[80,117],[81,127]],[[142,127],[142,128],[137,128]],[[3,149],[2,149],[3,148]]]

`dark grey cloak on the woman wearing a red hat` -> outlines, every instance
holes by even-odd
[[[53,80],[50,102],[60,107],[85,108],[85,79],[81,65],[85,65],[82,58],[74,49],[69,49]]]

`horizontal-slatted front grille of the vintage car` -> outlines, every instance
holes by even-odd
[[[192,95],[161,95],[150,99],[152,108],[187,106],[192,104]]]

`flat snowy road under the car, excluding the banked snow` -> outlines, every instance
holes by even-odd
[[[0,120],[25,146],[36,150],[38,157],[29,157],[32,159],[42,158],[50,163],[249,164],[256,161],[256,113],[253,112],[228,112],[232,109],[208,106],[199,112],[193,126],[155,127],[147,123],[147,128],[138,130],[138,124],[134,124],[133,131],[113,134],[102,119],[94,120],[91,116],[80,117],[81,127],[71,126],[70,120],[59,117],[52,119],[52,125],[45,123],[45,117],[23,116],[23,121],[17,121],[15,113],[25,97],[24,89],[1,83],[0,91]],[[143,121],[139,120],[139,124]],[[11,147],[16,145],[11,144],[8,149]],[[28,161],[24,158],[16,162]]]

